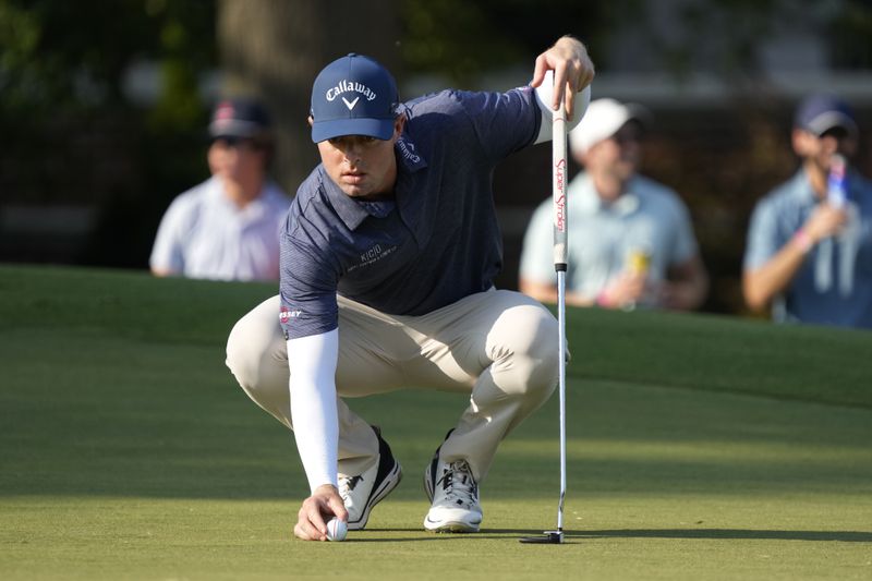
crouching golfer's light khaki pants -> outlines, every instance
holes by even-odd
[[[373,429],[343,398],[403,388],[465,395],[469,407],[440,458],[465,459],[481,482],[500,440],[557,385],[557,320],[519,292],[481,292],[422,316],[386,315],[342,296],[338,301],[341,474],[360,474],[378,459]],[[227,365],[255,403],[292,428],[291,371],[278,315],[274,296],[242,317],[228,339]],[[385,437],[390,440],[390,434]]]

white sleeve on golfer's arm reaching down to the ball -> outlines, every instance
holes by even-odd
[[[296,449],[312,492],[337,486],[339,420],[336,408],[336,365],[339,330],[288,340],[291,371],[291,421]]]

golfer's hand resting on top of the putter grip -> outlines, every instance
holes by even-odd
[[[594,76],[593,62],[584,45],[571,37],[562,36],[552,48],[536,57],[536,68],[530,86],[537,87],[546,71],[554,71],[554,101],[556,111],[560,102],[566,107],[567,120],[572,119],[573,95],[591,84]]]

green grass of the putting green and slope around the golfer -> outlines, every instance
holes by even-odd
[[[482,533],[422,530],[467,402],[420,391],[353,402],[405,477],[317,544],[291,436],[223,366],[271,293],[0,266],[1,579],[872,578],[872,334],[570,310],[567,544],[517,542],[555,524],[556,398],[500,449]]]

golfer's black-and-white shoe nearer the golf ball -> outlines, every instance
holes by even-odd
[[[390,452],[382,432],[373,426],[378,436],[378,461],[362,474],[339,474],[339,496],[348,510],[348,530],[360,531],[370,520],[370,511],[385,498],[402,480],[402,468]]]

